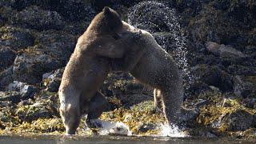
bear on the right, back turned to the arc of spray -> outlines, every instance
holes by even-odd
[[[136,30],[126,22],[122,23],[124,30]],[[182,78],[178,65],[150,33],[141,31],[142,35],[136,45],[127,50],[124,58],[119,61],[115,59],[112,68],[128,71],[139,82],[155,88],[154,106],[162,103],[169,124],[178,124],[183,99]]]

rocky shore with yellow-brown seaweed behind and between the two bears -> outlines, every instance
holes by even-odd
[[[150,31],[178,62],[186,95],[183,131],[256,139],[256,2],[230,0],[0,0],[0,134],[63,134],[58,86],[78,37],[103,6]],[[164,122],[153,90],[109,74],[102,120],[132,134]],[[81,123],[78,134],[91,134]]]

